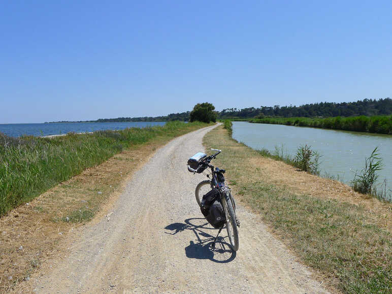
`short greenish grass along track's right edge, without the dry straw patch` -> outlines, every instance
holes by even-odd
[[[368,210],[297,195],[284,184],[271,185],[263,167],[255,168],[249,161],[268,151],[252,150],[218,129],[205,136],[204,144],[222,150],[215,165],[226,169],[225,176],[229,183],[236,183],[232,188],[241,200],[259,213],[303,263],[343,292],[390,292],[392,238]]]

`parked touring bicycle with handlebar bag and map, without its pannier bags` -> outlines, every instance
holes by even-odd
[[[236,216],[236,203],[232,196],[231,189],[227,186],[225,182],[225,178],[223,174],[225,170],[215,168],[211,165],[211,160],[216,158],[220,152],[219,149],[212,149],[217,151],[215,154],[207,156],[207,154],[199,152],[193,155],[188,160],[188,171],[192,173],[202,173],[207,168],[211,169],[212,179],[204,180],[200,182],[195,189],[195,197],[196,201],[199,204],[199,207],[202,206],[203,195],[205,195],[209,190],[216,188],[219,191],[220,203],[222,204],[224,214],[226,217],[225,226],[227,230],[228,239],[230,241],[231,247],[234,251],[238,250],[239,240],[238,240],[238,228],[240,226],[240,221]],[[191,161],[192,160],[192,161]],[[207,178],[210,178],[210,175],[206,175]],[[214,242],[212,243],[212,247],[215,247],[216,240],[222,231],[222,225],[219,228],[218,235],[216,236]]]

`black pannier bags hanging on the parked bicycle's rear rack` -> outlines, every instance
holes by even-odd
[[[213,227],[221,228],[224,225],[226,217],[217,189],[214,188],[203,196],[200,210]]]

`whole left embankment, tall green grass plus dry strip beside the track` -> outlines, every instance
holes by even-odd
[[[23,292],[19,282],[45,260],[63,256],[74,228],[104,214],[157,148],[207,125],[173,122],[52,139],[6,138],[9,144],[0,153],[0,191],[3,212],[8,211],[0,218],[0,292]],[[4,197],[14,201],[4,205]]]

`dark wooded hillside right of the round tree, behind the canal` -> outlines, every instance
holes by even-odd
[[[335,117],[335,116],[373,116],[392,114],[392,99],[385,98],[379,100],[364,99],[357,102],[321,102],[305,104],[302,106],[283,106],[274,107],[262,106],[260,108],[227,108],[223,109],[218,119],[225,118],[254,118],[264,116],[280,117]]]

